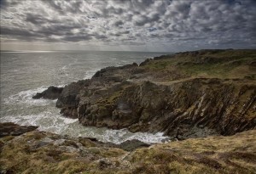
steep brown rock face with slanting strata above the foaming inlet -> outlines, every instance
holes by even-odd
[[[166,132],[181,139],[232,135],[256,127],[256,86],[242,81],[239,85],[203,78],[170,85],[123,82],[95,93],[79,103],[84,126]]]

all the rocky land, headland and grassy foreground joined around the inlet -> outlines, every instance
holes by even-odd
[[[84,126],[164,132],[121,144],[0,123],[0,173],[255,173],[256,50],[199,50],[107,67],[49,87]],[[183,140],[183,141],[180,141]]]

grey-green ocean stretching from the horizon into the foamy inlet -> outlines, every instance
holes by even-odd
[[[72,137],[98,138],[102,142],[122,143],[138,139],[160,143],[163,133],[131,133],[126,129],[111,130],[81,126],[78,120],[61,116],[56,100],[32,99],[38,92],[54,85],[64,87],[72,81],[88,79],[107,66],[137,64],[144,59],[166,53],[143,52],[1,52],[0,122],[39,126],[47,132]]]

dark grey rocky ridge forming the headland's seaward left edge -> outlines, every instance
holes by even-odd
[[[80,98],[91,95],[98,89],[111,87],[115,83],[125,81],[136,70],[137,64],[120,67],[108,67],[96,72],[91,80],[72,82],[63,88],[56,107],[61,108],[61,114],[70,118],[78,118],[77,109]]]

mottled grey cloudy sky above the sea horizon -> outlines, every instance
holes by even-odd
[[[256,48],[256,0],[0,0],[1,50]]]

